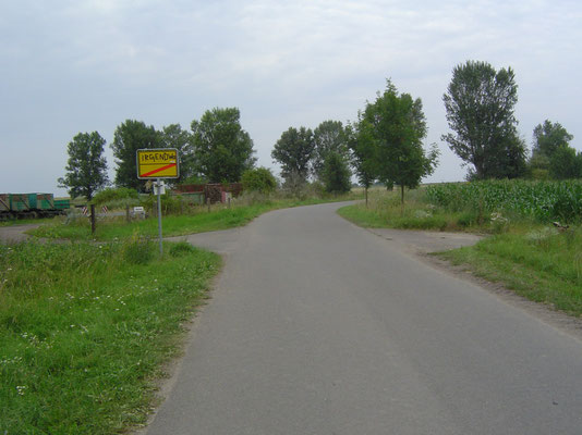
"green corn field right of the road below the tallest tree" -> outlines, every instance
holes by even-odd
[[[426,195],[431,203],[449,211],[498,212],[542,223],[582,220],[582,181],[449,183],[428,186]]]

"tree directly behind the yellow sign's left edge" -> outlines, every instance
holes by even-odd
[[[111,149],[118,165],[116,185],[143,190],[144,182],[137,178],[138,149],[162,148],[161,135],[153,125],[142,121],[126,120],[116,128]]]

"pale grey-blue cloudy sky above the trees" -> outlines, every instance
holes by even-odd
[[[421,98],[431,182],[463,179],[440,140],[442,94],[466,60],[511,66],[520,134],[549,119],[582,150],[579,0],[0,0],[0,191],[48,191],[66,145],[128,119],[156,128],[238,107],[258,164],[290,126],[354,121],[391,78]]]

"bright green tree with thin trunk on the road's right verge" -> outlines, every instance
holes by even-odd
[[[378,178],[399,185],[403,203],[404,188],[417,187],[438,162],[436,146],[428,153],[423,148],[426,119],[421,99],[399,94],[388,80],[384,94],[378,92],[376,101],[366,104],[360,124],[374,138]]]

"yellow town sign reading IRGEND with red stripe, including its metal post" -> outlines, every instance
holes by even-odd
[[[135,156],[137,160],[137,178],[155,178],[154,190],[158,196],[158,236],[159,253],[163,254],[161,236],[161,191],[162,178],[178,178],[180,176],[178,150],[175,148],[140,149]]]

